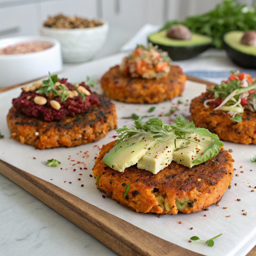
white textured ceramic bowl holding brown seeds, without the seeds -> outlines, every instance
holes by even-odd
[[[64,62],[83,62],[90,60],[103,46],[109,25],[103,24],[92,28],[50,28],[41,27],[41,34],[60,41]]]

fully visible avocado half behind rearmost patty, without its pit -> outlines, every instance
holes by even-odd
[[[148,41],[167,51],[172,60],[187,60],[204,52],[212,45],[212,38],[200,34],[192,34],[189,40],[171,39],[166,30],[151,34]]]

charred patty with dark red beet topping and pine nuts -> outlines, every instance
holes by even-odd
[[[115,105],[92,92],[90,81],[76,84],[52,76],[24,86],[7,115],[12,137],[39,149],[98,141],[117,125]]]

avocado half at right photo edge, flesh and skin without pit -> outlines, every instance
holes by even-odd
[[[238,66],[256,69],[256,46],[241,44],[243,34],[244,31],[230,31],[224,34],[224,49]]]

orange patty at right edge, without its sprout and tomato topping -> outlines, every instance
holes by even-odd
[[[256,144],[256,113],[245,109],[242,121],[232,121],[222,110],[204,107],[206,93],[193,99],[190,105],[191,117],[197,127],[208,129],[219,136],[220,140],[243,144]]]

